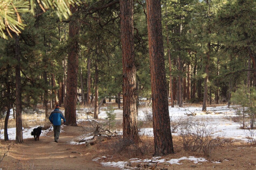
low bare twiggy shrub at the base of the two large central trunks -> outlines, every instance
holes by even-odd
[[[107,148],[110,154],[120,155],[125,157],[143,156],[152,154],[154,151],[154,142],[152,138],[143,136],[139,143],[135,143],[129,139],[123,139],[117,136],[114,140],[108,142]]]

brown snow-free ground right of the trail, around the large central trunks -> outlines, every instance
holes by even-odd
[[[143,139],[145,142],[145,139]],[[151,142],[150,142],[151,141]],[[149,146],[150,143],[153,143],[153,138],[149,141],[149,139],[146,139],[147,145]],[[98,150],[98,154],[100,156],[106,156],[111,155],[109,158],[101,159],[101,161],[109,162],[109,161],[131,161],[129,159],[131,158],[138,158],[138,159],[151,159],[153,155],[153,144],[150,145],[149,148],[147,148],[146,155],[144,156],[135,156],[132,152],[133,148],[131,147],[131,150],[124,150],[124,152],[115,152],[113,151],[113,147],[115,141],[107,141],[106,143],[98,143],[96,146]],[[175,145],[175,140],[174,140]],[[112,147],[111,147],[112,146]],[[111,149],[112,151],[110,151]],[[174,147],[174,150],[176,147]],[[170,159],[179,159],[181,157],[189,157],[194,156],[197,158],[204,157],[206,162],[198,162],[195,164],[193,161],[189,160],[181,160],[178,164],[169,164],[167,162],[164,163],[157,163],[156,169],[256,169],[256,159],[255,159],[255,153],[256,153],[256,146],[251,145],[243,145],[241,143],[230,143],[227,144],[224,147],[218,147],[214,150],[212,150],[211,157],[207,158],[204,157],[202,153],[197,152],[187,152],[184,150],[176,151],[175,154],[170,154],[168,156],[162,156],[160,159],[165,159],[166,161]],[[113,157],[112,157],[113,156]],[[215,163],[219,162],[219,163]],[[131,167],[136,167],[136,165],[141,164],[142,162],[138,163],[132,163]]]

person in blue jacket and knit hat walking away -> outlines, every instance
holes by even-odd
[[[63,119],[64,123],[66,119],[63,113],[59,110],[59,105],[56,105],[53,112],[51,112],[49,116],[50,122],[53,124],[53,131],[54,131],[54,141],[58,143],[59,133],[61,131],[61,118]]]

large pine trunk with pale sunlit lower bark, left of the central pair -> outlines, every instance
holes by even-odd
[[[123,65],[123,139],[137,143],[139,142],[136,109],[138,96],[136,95],[133,6],[133,0],[120,0]]]

